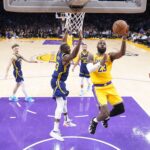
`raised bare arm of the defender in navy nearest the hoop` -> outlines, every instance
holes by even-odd
[[[80,45],[82,43],[82,38],[83,38],[83,36],[82,36],[82,33],[80,32],[80,34],[79,34],[79,41],[78,41],[77,46],[74,48],[74,50],[72,51],[71,54],[68,54],[68,55],[64,56],[64,58],[63,58],[63,65],[68,64],[71,60],[73,60],[77,56],[77,54],[78,54],[78,52],[80,50]]]

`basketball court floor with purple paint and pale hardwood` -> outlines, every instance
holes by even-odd
[[[96,53],[98,40],[84,40],[88,50]],[[106,40],[107,51],[118,51],[121,40]],[[15,80],[12,68],[7,80],[4,74],[12,55],[11,45],[20,45],[20,53],[39,63],[23,62],[25,85],[34,103],[9,102]],[[0,149],[2,150],[149,150],[150,149],[150,48],[128,42],[126,56],[113,64],[113,83],[124,99],[126,112],[112,118],[109,128],[98,125],[95,135],[88,133],[90,120],[98,113],[92,91],[80,93],[79,67],[70,69],[67,88],[68,109],[74,128],[61,125],[65,138],[59,142],[49,136],[53,127],[55,101],[50,88],[54,57],[60,41],[56,39],[0,40]],[[50,59],[50,62],[49,62]],[[111,107],[110,107],[111,108]],[[63,121],[63,120],[62,120]]]

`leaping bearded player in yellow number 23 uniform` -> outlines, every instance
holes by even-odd
[[[100,113],[93,118],[89,133],[94,134],[98,122],[102,122],[105,128],[108,127],[110,117],[119,115],[125,111],[123,100],[118,95],[112,84],[111,69],[114,60],[121,58],[126,52],[126,36],[122,38],[121,50],[106,54],[106,42],[100,40],[97,44],[97,54],[89,58],[93,63],[87,65],[93,83],[93,93],[99,103]],[[108,102],[113,106],[111,111],[108,110]]]

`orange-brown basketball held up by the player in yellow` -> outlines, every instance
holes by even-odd
[[[117,20],[114,22],[112,30],[115,34],[125,35],[128,32],[128,24],[124,20]]]

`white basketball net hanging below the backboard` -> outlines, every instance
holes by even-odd
[[[65,28],[68,31],[79,32],[82,31],[83,21],[84,21],[85,13],[66,13],[66,24]]]

